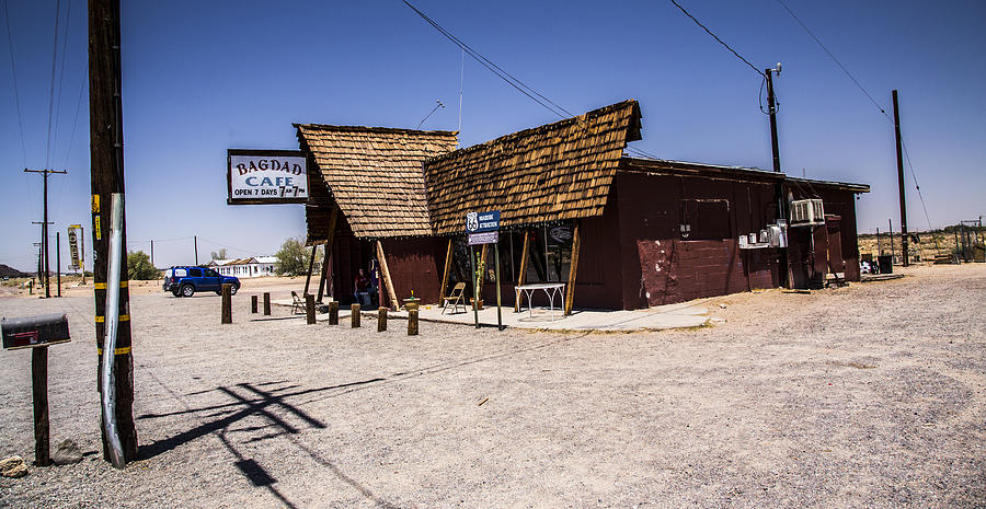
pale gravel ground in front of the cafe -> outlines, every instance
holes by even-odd
[[[100,458],[90,297],[49,351],[51,441],[79,464],[0,506],[986,507],[986,265],[726,296],[711,327],[390,331],[131,300],[141,459]],[[722,305],[718,305],[718,304]],[[30,352],[3,351],[0,456],[33,460]]]

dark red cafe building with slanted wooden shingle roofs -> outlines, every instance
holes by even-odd
[[[458,281],[472,296],[466,216],[488,210],[500,241],[472,261],[486,302],[494,254],[505,304],[518,285],[555,282],[567,310],[859,279],[856,199],[869,186],[627,157],[635,101],[458,150],[449,131],[295,127],[313,169],[308,243],[329,246],[325,291],[344,303],[360,267],[388,305],[412,291],[439,302]]]

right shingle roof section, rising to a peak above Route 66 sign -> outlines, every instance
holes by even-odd
[[[503,228],[601,216],[623,148],[639,139],[630,100],[429,159],[434,233],[466,231],[470,211],[500,210]]]

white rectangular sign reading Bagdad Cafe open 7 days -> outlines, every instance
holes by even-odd
[[[229,204],[297,204],[308,199],[308,164],[297,150],[229,149]]]

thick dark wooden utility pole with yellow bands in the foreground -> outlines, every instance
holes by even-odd
[[[119,69],[119,0],[89,2],[89,117],[92,187],[93,294],[95,337],[100,350],[106,333],[106,281],[110,268],[111,197],[124,193],[123,105]],[[126,241],[123,215],[122,243]],[[121,288],[116,348],[116,426],[124,459],[137,459],[137,427],[134,424],[134,356],[130,350],[130,305],[127,285],[127,253],[121,250]],[[101,366],[101,363],[98,363]],[[96,380],[102,380],[102,367]],[[102,394],[101,396],[106,396]],[[108,438],[103,437],[103,458],[110,459]]]

